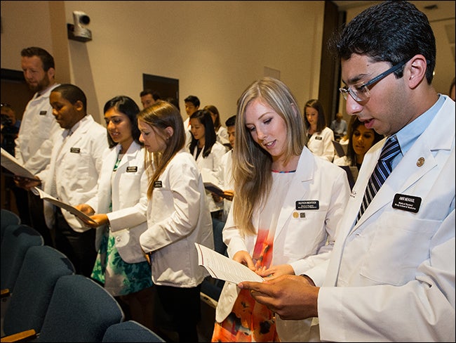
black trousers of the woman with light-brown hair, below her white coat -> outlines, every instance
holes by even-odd
[[[163,316],[154,318],[154,322],[163,321],[168,323],[156,323],[163,325],[169,330],[179,334],[179,342],[198,342],[198,325],[201,319],[201,285],[197,287],[170,287],[154,285],[157,292],[159,306]]]

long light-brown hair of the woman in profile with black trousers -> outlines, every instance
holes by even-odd
[[[138,113],[138,120],[149,124],[155,134],[166,143],[163,153],[145,153],[145,169],[149,176],[147,198],[152,198],[154,182],[159,179],[163,170],[175,154],[185,145],[184,122],[179,110],[167,101],[157,101]],[[173,129],[173,135],[166,134],[166,128]]]

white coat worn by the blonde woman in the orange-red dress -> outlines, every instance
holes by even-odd
[[[349,193],[345,171],[316,157],[304,147],[284,203],[278,204],[280,215],[274,235],[271,266],[290,264],[295,274],[300,275],[328,259],[335,240],[335,228],[344,213]],[[318,200],[319,209],[297,209],[298,200]],[[236,202],[236,196],[233,202]],[[259,221],[260,213],[255,211],[252,218],[255,228]],[[228,247],[230,258],[240,250],[248,251],[251,256],[256,238],[256,235],[243,238],[234,224],[232,212],[229,212],[223,229],[223,241]],[[223,321],[232,311],[237,295],[236,285],[224,283],[216,309],[217,322]],[[283,322],[277,321],[282,342],[293,339],[290,335],[296,330],[294,325],[300,326],[302,321],[290,322],[285,330]]]

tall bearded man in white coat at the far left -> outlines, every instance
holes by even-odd
[[[32,174],[37,174],[51,160],[52,143],[49,138],[55,131],[62,130],[55,121],[49,103],[51,90],[58,84],[55,83],[54,58],[48,51],[32,46],[22,49],[20,56],[25,81],[36,93],[22,115],[18,138],[15,140],[15,157]],[[43,200],[32,192],[29,192],[29,211],[32,226],[43,235],[44,244],[52,246],[51,232],[43,217]]]

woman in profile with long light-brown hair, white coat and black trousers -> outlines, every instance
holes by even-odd
[[[198,264],[195,242],[213,249],[210,212],[194,157],[185,150],[185,129],[177,108],[158,101],[138,115],[147,150],[147,230],[142,250],[170,330],[180,342],[198,342],[200,290],[208,273]]]

